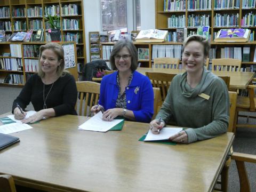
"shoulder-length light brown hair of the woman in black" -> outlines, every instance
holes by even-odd
[[[67,70],[64,69],[65,67],[65,59],[64,59],[64,50],[63,47],[58,43],[46,43],[45,45],[41,45],[39,50],[39,61],[38,61],[38,75],[43,78],[45,76],[45,73],[42,71],[42,66],[40,63],[40,59],[42,57],[42,52],[46,49],[52,50],[55,54],[58,56],[58,61],[61,60],[60,66],[57,68],[57,76],[58,78],[61,76],[64,76],[66,73],[68,73]]]

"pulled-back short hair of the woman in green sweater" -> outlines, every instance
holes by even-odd
[[[182,53],[185,49],[185,47],[188,45],[189,42],[191,41],[196,41],[199,42],[203,45],[204,47],[204,57],[208,57],[209,55],[209,50],[210,50],[210,43],[208,39],[203,37],[202,35],[191,35],[189,36],[184,42],[183,42],[183,47],[182,47]]]

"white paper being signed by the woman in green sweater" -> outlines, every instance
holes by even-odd
[[[177,127],[164,127],[159,134],[153,134],[151,130],[149,130],[147,137],[144,139],[144,141],[167,140],[172,135],[179,133],[182,130],[182,128]]]

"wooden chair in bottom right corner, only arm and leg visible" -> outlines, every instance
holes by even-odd
[[[240,181],[240,191],[247,192],[250,190],[250,183],[247,177],[247,172],[245,169],[244,162],[256,163],[256,155],[243,154],[243,153],[233,153],[231,159],[234,159],[237,166],[239,181]],[[256,179],[256,178],[255,178]]]

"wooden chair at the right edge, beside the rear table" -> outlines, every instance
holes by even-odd
[[[256,78],[252,79],[252,82],[256,82]],[[237,106],[236,106],[236,114],[235,114],[235,122],[234,122],[234,133],[236,133],[237,127],[248,127],[248,128],[256,128],[256,125],[249,124],[249,118],[256,118],[255,116],[245,116],[245,115],[239,115],[239,111],[246,111],[246,112],[256,112],[256,98],[255,98],[255,90],[256,85],[252,85],[252,82],[250,85],[247,86],[247,92],[248,96],[238,96],[237,97]],[[246,117],[247,123],[246,124],[237,124],[237,118],[239,117]]]

